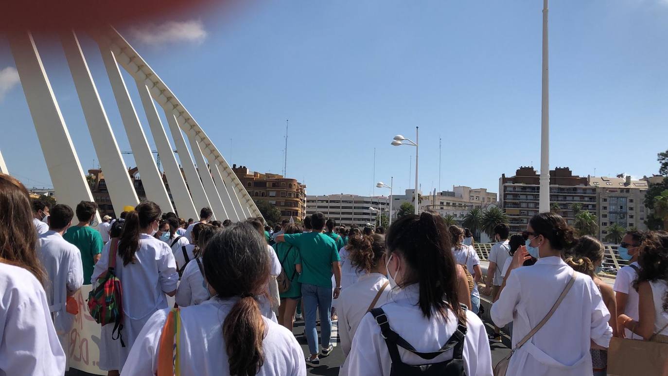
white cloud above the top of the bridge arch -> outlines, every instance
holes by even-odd
[[[147,24],[130,29],[133,37],[140,43],[159,47],[166,44],[191,42],[202,43],[206,39],[206,30],[202,21],[166,21]]]

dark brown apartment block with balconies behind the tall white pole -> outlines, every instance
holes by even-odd
[[[525,230],[529,218],[538,213],[539,179],[531,166],[520,167],[514,176],[501,175],[499,206],[510,217],[512,233]],[[589,178],[573,175],[568,167],[550,170],[550,206],[557,204],[569,224],[574,221],[573,204],[581,204],[582,210],[597,214],[597,202],[597,186],[589,184]]]

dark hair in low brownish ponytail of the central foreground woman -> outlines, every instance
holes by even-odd
[[[265,362],[265,321],[255,295],[269,278],[267,243],[253,224],[236,223],[204,250],[204,275],[220,298],[239,298],[222,324],[230,375],[256,375]]]

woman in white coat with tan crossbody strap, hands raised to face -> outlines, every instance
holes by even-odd
[[[514,353],[506,374],[591,375],[589,350],[606,349],[613,329],[592,278],[562,260],[575,244],[574,229],[558,214],[540,213],[529,220],[524,236],[526,250],[514,253],[506,285],[490,311],[496,326],[513,323]],[[522,266],[531,256],[536,264]]]

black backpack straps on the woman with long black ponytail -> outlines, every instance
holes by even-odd
[[[403,363],[401,362],[401,356],[399,355],[397,345],[426,360],[434,359],[450,349],[454,349],[452,359],[462,359],[462,353],[464,353],[464,337],[466,337],[466,323],[463,323],[462,321],[458,323],[457,330],[455,333],[452,333],[450,339],[448,339],[440,350],[431,353],[421,353],[420,351],[415,350],[410,343],[407,343],[405,339],[401,338],[401,336],[389,327],[387,315],[385,315],[385,311],[383,311],[382,308],[372,309],[371,315],[373,315],[373,318],[380,327],[381,335],[383,336],[383,339],[385,339],[387,351],[389,351],[392,363]],[[466,316],[466,311],[464,312],[464,316]]]

